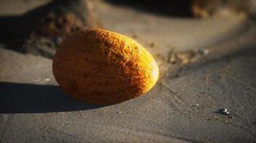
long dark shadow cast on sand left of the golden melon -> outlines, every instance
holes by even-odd
[[[58,86],[0,82],[0,113],[72,112],[100,107],[73,99]]]

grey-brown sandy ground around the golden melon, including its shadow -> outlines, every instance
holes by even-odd
[[[254,21],[95,5],[106,29],[132,36],[155,56],[155,87],[111,106],[82,103],[58,87],[51,59],[1,45],[0,142],[256,142]],[[168,59],[192,51],[188,63]]]

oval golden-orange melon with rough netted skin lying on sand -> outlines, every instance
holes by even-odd
[[[87,29],[65,39],[52,61],[60,87],[91,104],[116,104],[148,92],[159,70],[152,55],[133,39]]]

